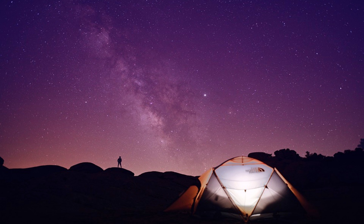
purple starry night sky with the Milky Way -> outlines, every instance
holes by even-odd
[[[39,2],[39,3],[38,3]],[[0,156],[201,175],[364,138],[362,1],[1,1]]]

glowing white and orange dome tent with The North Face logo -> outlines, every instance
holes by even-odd
[[[190,211],[198,216],[228,216],[245,222],[284,219],[310,213],[308,202],[265,163],[239,156],[210,168],[165,211]]]

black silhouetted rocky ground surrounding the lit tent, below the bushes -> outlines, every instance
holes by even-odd
[[[363,223],[363,164],[267,161],[316,207],[319,217],[288,223]],[[330,170],[331,169],[331,170]],[[0,223],[241,223],[165,213],[197,177],[175,172],[134,176],[92,163],[0,171]],[[262,222],[260,222],[262,223]],[[281,220],[268,223],[287,223]]]

